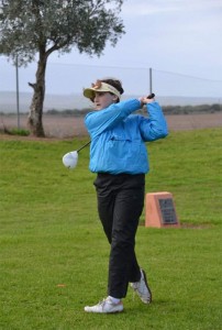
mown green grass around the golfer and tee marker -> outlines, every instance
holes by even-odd
[[[107,293],[109,245],[87,140],[0,140],[0,329],[222,329],[222,131],[171,132],[149,145],[146,193],[169,191],[180,229],[145,228],[136,252],[154,301],[129,289],[124,312],[88,315]]]

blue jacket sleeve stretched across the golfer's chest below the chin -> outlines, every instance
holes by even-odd
[[[93,111],[86,116],[85,125],[92,138],[101,134],[103,131],[112,129],[119,122],[124,120],[133,111],[141,108],[137,99],[131,99],[113,103],[107,109]]]

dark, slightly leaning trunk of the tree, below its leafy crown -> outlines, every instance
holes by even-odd
[[[27,117],[27,127],[31,134],[38,138],[44,138],[45,132],[43,129],[43,105],[45,98],[45,70],[46,70],[47,56],[41,55],[37,63],[36,82],[29,85],[33,88],[34,94],[30,106],[30,113]]]

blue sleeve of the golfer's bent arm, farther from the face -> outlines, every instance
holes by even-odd
[[[144,141],[155,141],[168,135],[167,122],[157,102],[146,106],[149,118],[142,117],[140,123],[141,135]]]

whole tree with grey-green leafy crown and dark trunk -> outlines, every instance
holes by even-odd
[[[44,136],[42,123],[45,72],[48,56],[76,46],[80,53],[101,55],[108,41],[115,46],[124,33],[118,18],[123,0],[2,0],[0,1],[0,54],[19,66],[35,61],[37,69],[27,124]]]

